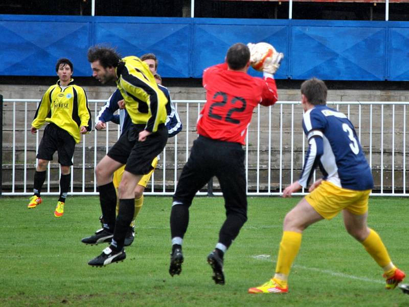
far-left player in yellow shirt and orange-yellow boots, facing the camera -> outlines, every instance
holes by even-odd
[[[49,161],[53,160],[54,152],[58,151],[58,163],[61,166],[60,197],[54,215],[60,217],[64,213],[65,198],[70,188],[75,144],[79,143],[80,134],[91,131],[92,119],[85,91],[73,84],[71,61],[61,58],[55,69],[60,79],[43,95],[31,124],[31,133],[35,134],[44,122],[49,123],[38,147],[34,195],[28,208],[35,208],[41,203],[40,191],[46,180],[46,168]]]

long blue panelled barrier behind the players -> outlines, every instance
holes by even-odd
[[[86,51],[106,43],[155,53],[163,77],[200,78],[233,43],[267,41],[285,54],[278,79],[409,80],[409,22],[0,15],[0,33],[5,76],[54,76],[60,57],[90,76]]]

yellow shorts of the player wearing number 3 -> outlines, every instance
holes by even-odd
[[[361,215],[368,211],[371,190],[350,190],[323,181],[315,190],[305,196],[305,200],[326,220],[331,220],[339,211],[346,209]]]

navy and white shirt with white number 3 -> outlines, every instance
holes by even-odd
[[[354,126],[345,114],[326,105],[315,105],[304,114],[303,129],[309,148],[299,184],[308,186],[320,166],[327,180],[352,190],[373,188],[371,168],[362,152]]]

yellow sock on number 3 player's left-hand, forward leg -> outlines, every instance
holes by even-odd
[[[276,266],[276,275],[274,279],[280,280],[280,286],[286,283],[287,276],[290,273],[291,265],[296,258],[301,246],[303,234],[294,231],[284,231],[280,242],[278,260]]]

